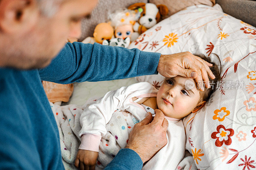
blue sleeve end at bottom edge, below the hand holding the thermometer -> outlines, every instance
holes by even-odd
[[[121,149],[104,170],[138,170],[143,166],[140,156],[133,150]]]

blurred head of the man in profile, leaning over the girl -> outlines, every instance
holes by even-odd
[[[0,67],[47,66],[97,0],[0,0]]]

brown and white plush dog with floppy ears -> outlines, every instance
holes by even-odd
[[[135,23],[133,30],[138,33],[144,33],[147,29],[156,25],[161,16],[168,14],[168,8],[165,5],[155,5],[151,3],[136,3],[128,7],[130,10],[143,10],[140,14],[139,23]]]

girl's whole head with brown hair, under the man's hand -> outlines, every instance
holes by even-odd
[[[215,91],[216,84],[220,81],[218,66],[211,62],[210,57],[206,57],[205,55],[197,56],[213,64],[210,70],[214,74],[215,79],[211,79],[208,76],[211,88],[205,88],[203,92],[200,91],[193,78],[182,76],[165,78],[156,97],[157,106],[165,116],[181,119],[190,113],[195,113],[204,106],[211,94]]]

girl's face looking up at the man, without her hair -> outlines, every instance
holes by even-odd
[[[181,76],[165,78],[156,97],[157,106],[164,115],[176,119],[203,107],[198,109],[199,99],[200,94],[194,79]]]

